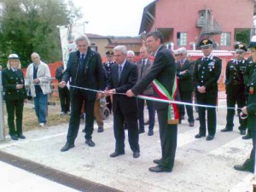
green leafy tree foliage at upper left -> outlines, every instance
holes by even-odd
[[[58,0],[2,0],[0,16],[0,63],[11,53],[20,56],[22,67],[31,63],[32,52],[45,62],[60,61],[61,45],[56,26],[66,25],[66,5]]]

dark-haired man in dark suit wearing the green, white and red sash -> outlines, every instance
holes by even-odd
[[[166,92],[167,95],[173,98],[176,92],[172,91],[175,88],[173,86],[176,81],[175,60],[171,52],[163,45],[163,35],[158,31],[149,32],[146,43],[148,49],[154,54],[153,66],[140,82],[126,92],[126,95],[138,95],[148,87],[148,84],[153,82],[155,97],[162,98],[162,95],[160,95],[160,89],[162,89],[161,93]],[[157,87],[157,85],[160,85],[161,88]],[[170,96],[167,96],[167,98],[170,99]],[[154,163],[158,164],[158,166],[150,167],[149,171],[172,172],[177,148],[178,114],[172,113],[173,108],[168,103],[154,102],[154,108],[157,111],[159,120],[162,157],[160,160],[154,160]],[[178,113],[177,110],[174,112]],[[175,116],[175,119],[172,119],[173,116]]]

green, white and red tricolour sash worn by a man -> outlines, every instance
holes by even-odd
[[[172,87],[172,96],[169,94],[168,90],[163,86],[163,84],[160,84],[160,82],[156,79],[152,82],[154,90],[157,92],[157,94],[160,96],[163,100],[173,100],[176,97],[177,94],[177,79],[175,78],[173,87]],[[168,106],[168,124],[174,125],[177,124],[179,120],[178,116],[178,110],[177,105],[174,103],[169,103]]]

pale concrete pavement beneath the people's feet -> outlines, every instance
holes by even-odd
[[[220,101],[219,105],[224,105],[224,102],[224,100]],[[148,137],[147,134],[140,135],[140,158],[132,158],[127,141],[125,155],[114,159],[109,158],[109,154],[114,150],[112,116],[105,121],[104,132],[94,132],[95,148],[84,144],[84,134],[81,132],[84,122],[82,122],[79,137],[75,143],[76,147],[66,153],[61,153],[60,149],[66,143],[67,125],[28,131],[25,133],[26,140],[24,141],[14,142],[7,138],[5,143],[0,143],[0,150],[127,192],[246,192],[252,187],[253,174],[236,172],[232,167],[247,158],[252,141],[241,139],[237,130],[237,118],[236,128],[233,132],[220,132],[225,125],[225,114],[225,109],[218,109],[218,131],[215,139],[211,142],[207,142],[205,137],[195,139],[194,136],[199,127],[198,121],[195,122],[194,128],[189,127],[187,120],[183,120],[183,124],[178,125],[177,155],[171,173],[148,172],[148,167],[154,166],[152,160],[160,157],[158,125],[155,125],[153,137]],[[2,174],[2,167],[9,170]],[[8,174],[7,172],[16,174],[14,168],[6,164],[0,163],[0,169],[1,176]],[[26,176],[29,173],[20,170],[18,172],[23,172],[24,177],[30,180],[29,176]],[[44,180],[41,177],[34,179]],[[6,177],[0,177],[0,180],[4,183],[9,182]],[[18,184],[22,183],[21,181],[15,180]],[[26,181],[24,183],[27,186],[30,182]],[[56,183],[49,182],[45,186],[51,185],[56,186],[56,189],[47,189],[48,192],[65,191],[61,189],[65,187]],[[8,184],[3,186],[8,187]],[[20,189],[23,188],[25,188],[25,184],[20,185]],[[72,191],[72,189],[65,189]],[[25,189],[24,191],[39,190],[33,188],[32,185],[31,190]]]

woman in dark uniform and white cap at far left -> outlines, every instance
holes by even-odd
[[[24,102],[27,101],[26,89],[24,76],[20,70],[19,56],[16,54],[11,54],[8,57],[7,68],[3,70],[3,87],[5,89],[9,135],[13,140],[25,139],[26,137],[22,134],[22,113]]]

